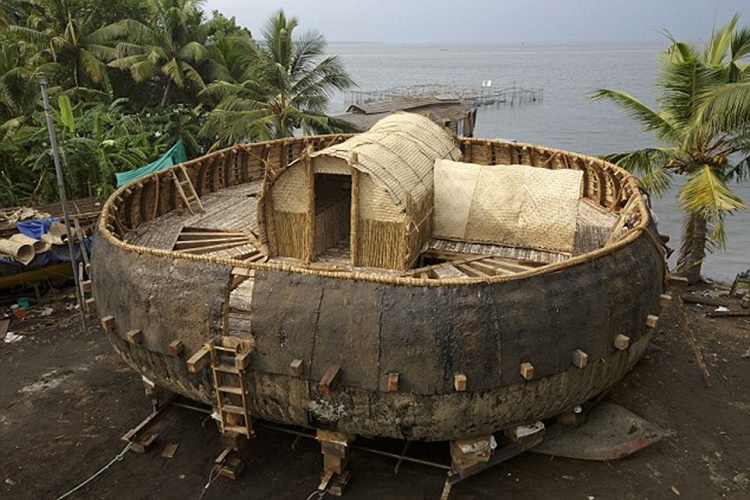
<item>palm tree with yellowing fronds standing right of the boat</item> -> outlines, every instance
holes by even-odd
[[[724,247],[725,216],[745,208],[728,186],[750,172],[750,69],[743,63],[750,55],[750,29],[738,29],[738,20],[735,15],[715,29],[702,50],[667,33],[671,43],[661,60],[658,109],[623,91],[600,89],[593,95],[612,100],[663,144],[606,159],[642,174],[644,187],[654,194],[676,175],[685,177],[677,194],[685,222],[675,272],[690,283],[700,281],[706,253]]]

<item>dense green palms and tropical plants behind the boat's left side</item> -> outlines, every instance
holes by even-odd
[[[293,38],[297,21],[279,13],[266,33],[276,37],[271,50],[234,18],[206,19],[202,5],[0,0],[0,204],[57,199],[42,73],[70,197],[106,196],[114,172],[156,159],[178,139],[189,156],[204,154],[219,134],[209,116],[236,141],[348,130],[323,114],[330,92],[351,81],[335,58],[322,58],[322,37]],[[201,94],[207,86],[215,90]],[[227,86],[241,95],[226,99]],[[236,110],[238,124],[226,121]]]

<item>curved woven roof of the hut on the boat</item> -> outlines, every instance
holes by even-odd
[[[458,160],[461,151],[449,131],[411,113],[394,113],[347,141],[312,155],[344,160],[383,186],[393,202],[406,207],[433,190],[438,158]]]

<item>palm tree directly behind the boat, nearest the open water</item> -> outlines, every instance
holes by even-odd
[[[219,100],[204,128],[221,143],[354,131],[325,115],[335,91],[354,85],[338,57],[323,57],[326,42],[317,32],[294,36],[296,18],[282,10],[263,31],[265,43],[254,46],[254,61],[241,81],[209,85],[202,95]]]

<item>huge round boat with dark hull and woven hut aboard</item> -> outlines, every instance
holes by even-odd
[[[664,289],[636,181],[424,122],[241,144],[119,189],[92,255],[114,348],[225,430],[247,413],[455,440],[605,391],[646,348]],[[536,189],[561,173],[572,209]],[[572,233],[546,225],[571,210]]]

